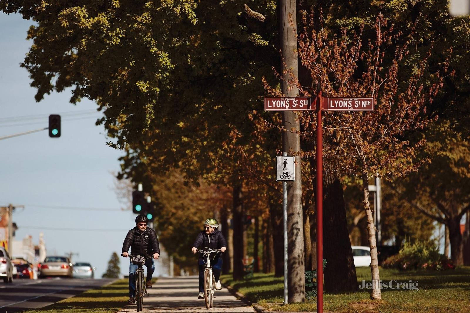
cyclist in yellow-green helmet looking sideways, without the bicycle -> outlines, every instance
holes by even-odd
[[[197,252],[197,248],[211,248],[211,249],[220,249],[222,252],[225,252],[227,249],[227,241],[225,240],[222,232],[217,229],[219,227],[219,222],[215,219],[207,219],[204,222],[204,230],[201,231],[197,237],[196,241],[191,248],[193,253]],[[198,299],[204,299],[204,260],[199,258],[197,260],[197,265],[199,266],[199,294],[197,295]],[[220,290],[222,286],[219,282],[220,270],[222,267],[222,254],[216,254],[216,258],[211,260],[212,272],[214,273],[215,278],[215,289]]]

